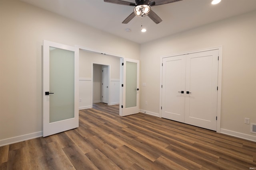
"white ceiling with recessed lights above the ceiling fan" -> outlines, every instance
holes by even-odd
[[[155,24],[148,16],[134,17],[128,24],[122,21],[132,13],[132,6],[106,3],[103,0],[20,0],[97,29],[145,43],[188,29],[256,10],[256,0],[182,0],[153,6],[151,9],[163,20]],[[126,0],[135,2],[135,0]],[[156,0],[157,1],[157,0]],[[141,22],[147,31],[142,33]],[[126,32],[125,29],[131,29]]]

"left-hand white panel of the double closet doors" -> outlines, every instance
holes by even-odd
[[[184,55],[163,59],[162,117],[184,122],[185,74]]]

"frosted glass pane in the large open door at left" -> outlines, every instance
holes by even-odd
[[[50,123],[74,118],[74,51],[50,47]]]

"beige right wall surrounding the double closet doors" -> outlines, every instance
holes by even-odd
[[[256,123],[255,11],[142,44],[140,109],[159,113],[160,57],[217,46],[223,46],[221,131],[256,141],[244,124],[245,117]]]

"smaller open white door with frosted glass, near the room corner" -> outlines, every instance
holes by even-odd
[[[124,58],[121,60],[120,115],[139,112],[139,66],[140,61]]]

